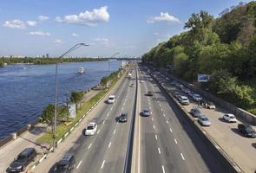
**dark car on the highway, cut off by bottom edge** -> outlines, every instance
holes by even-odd
[[[56,163],[56,173],[71,173],[75,168],[75,156],[73,154],[66,154],[62,160]]]

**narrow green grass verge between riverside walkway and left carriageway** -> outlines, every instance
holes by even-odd
[[[112,88],[115,83],[118,81],[117,77],[111,80],[111,86]],[[66,132],[68,132],[77,122],[79,119],[81,119],[82,115],[85,112],[88,112],[89,109],[95,105],[95,103],[102,98],[102,96],[108,92],[108,89],[103,89],[95,94],[94,97],[86,101],[80,109],[76,112],[75,119],[72,119],[72,123],[69,125],[64,125],[64,123],[61,123],[59,125],[56,125],[56,141],[58,141],[60,138],[62,138]],[[38,144],[49,144],[49,146],[52,146],[52,131],[47,131],[41,138],[38,138],[36,140],[36,143]]]

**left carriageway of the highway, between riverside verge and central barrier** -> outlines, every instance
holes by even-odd
[[[133,79],[125,79],[115,93],[113,105],[105,104],[94,116],[98,124],[94,136],[81,136],[69,150],[75,153],[73,172],[122,172],[128,145],[128,132],[135,103],[135,71]],[[128,113],[127,123],[118,123],[116,118],[121,112]]]

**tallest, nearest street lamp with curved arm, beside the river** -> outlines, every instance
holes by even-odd
[[[74,51],[76,48],[80,48],[82,46],[89,46],[89,44],[86,43],[77,43],[72,48],[69,48],[67,52],[62,54],[58,59],[61,59],[64,55],[69,54],[70,52]],[[54,110],[54,126],[53,126],[53,152],[56,148],[56,114],[57,114],[57,93],[58,93],[58,82],[57,82],[57,73],[58,73],[58,62],[56,62],[56,102],[55,102],[55,110]]]

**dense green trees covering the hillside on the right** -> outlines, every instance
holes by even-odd
[[[240,3],[213,18],[200,11],[188,29],[142,56],[154,67],[173,65],[169,73],[207,88],[213,94],[256,114],[256,2]],[[197,74],[209,74],[206,84]]]

